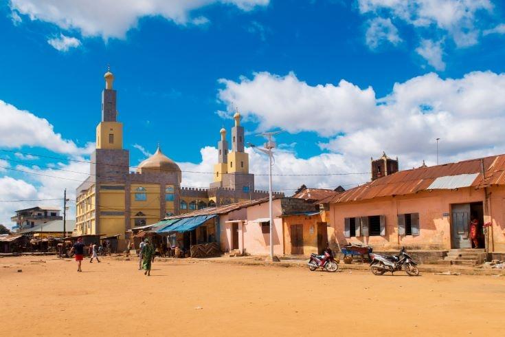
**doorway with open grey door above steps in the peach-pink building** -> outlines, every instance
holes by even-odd
[[[475,217],[479,221],[479,246],[484,247],[484,235],[482,235],[483,209],[482,202],[451,205],[451,248],[473,248],[470,238],[471,217]]]

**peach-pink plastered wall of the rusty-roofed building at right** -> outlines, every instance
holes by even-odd
[[[491,215],[493,218],[493,241],[495,251],[505,251],[504,198],[505,188],[491,188]],[[330,205],[330,224],[335,228],[335,239],[340,245],[348,242],[367,243],[374,248],[393,249],[411,246],[418,249],[450,249],[451,204],[483,202],[484,190],[460,188],[457,191],[423,191],[416,195],[381,197],[362,202],[347,202]],[[420,235],[398,235],[397,215],[419,213]],[[385,215],[385,236],[344,237],[344,219]],[[484,222],[490,221],[484,218]],[[493,249],[490,243],[490,250]]]

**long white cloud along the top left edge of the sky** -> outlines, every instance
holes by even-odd
[[[191,12],[213,3],[225,3],[240,10],[267,6],[269,0],[10,0],[10,8],[32,20],[54,23],[64,30],[77,29],[83,36],[123,38],[140,18],[160,16],[178,24],[206,23],[192,19]],[[193,22],[194,21],[194,22]],[[203,22],[205,21],[205,22]]]

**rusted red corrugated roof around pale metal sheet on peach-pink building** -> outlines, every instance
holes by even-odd
[[[482,161],[484,162],[486,177],[484,180],[482,179]],[[352,188],[339,195],[326,197],[317,204],[353,202],[373,199],[375,197],[414,194],[426,190],[438,177],[471,173],[479,173],[473,184],[471,184],[474,188],[505,184],[505,155],[493,155],[491,157],[464,160],[451,164],[399,171],[362,186]]]

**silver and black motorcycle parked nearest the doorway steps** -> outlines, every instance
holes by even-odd
[[[370,271],[374,275],[382,275],[385,272],[393,274],[399,270],[405,270],[409,276],[418,276],[419,270],[417,263],[412,260],[412,257],[405,252],[405,247],[402,247],[400,254],[396,256],[370,254]]]

